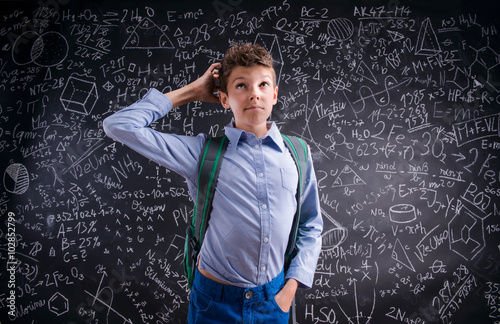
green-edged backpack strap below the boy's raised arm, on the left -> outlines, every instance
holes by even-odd
[[[188,279],[189,288],[191,288],[193,283],[198,253],[200,252],[201,243],[207,231],[217,178],[227,144],[228,139],[226,136],[211,137],[205,141],[201,151],[193,220],[187,228],[186,243],[184,246],[184,271]]]

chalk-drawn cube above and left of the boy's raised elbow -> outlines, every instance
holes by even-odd
[[[66,81],[60,100],[65,110],[88,115],[98,98],[95,82],[70,76]]]

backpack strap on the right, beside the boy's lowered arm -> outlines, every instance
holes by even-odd
[[[297,241],[297,232],[299,230],[299,219],[301,212],[302,195],[304,194],[304,186],[306,181],[307,171],[307,144],[299,137],[296,136],[283,136],[283,142],[288,147],[295,164],[297,165],[297,172],[299,174],[299,183],[297,186],[297,210],[293,218],[292,229],[288,239],[288,245],[285,252],[285,258],[291,259],[295,253],[295,243]]]

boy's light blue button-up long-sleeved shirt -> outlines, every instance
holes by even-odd
[[[198,158],[207,135],[167,134],[148,127],[170,110],[170,100],[153,89],[106,118],[103,127],[109,137],[183,176],[195,200]],[[268,128],[257,139],[226,126],[229,145],[200,252],[202,269],[238,287],[260,286],[281,272],[297,205],[295,162],[276,124],[268,123]],[[313,284],[323,228],[311,154],[307,165],[298,253],[286,274],[302,288]]]

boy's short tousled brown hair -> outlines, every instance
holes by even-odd
[[[227,93],[227,82],[234,68],[264,66],[272,70],[273,86],[276,85],[276,72],[274,71],[271,54],[259,44],[235,44],[230,47],[222,60],[219,70],[220,90]]]

